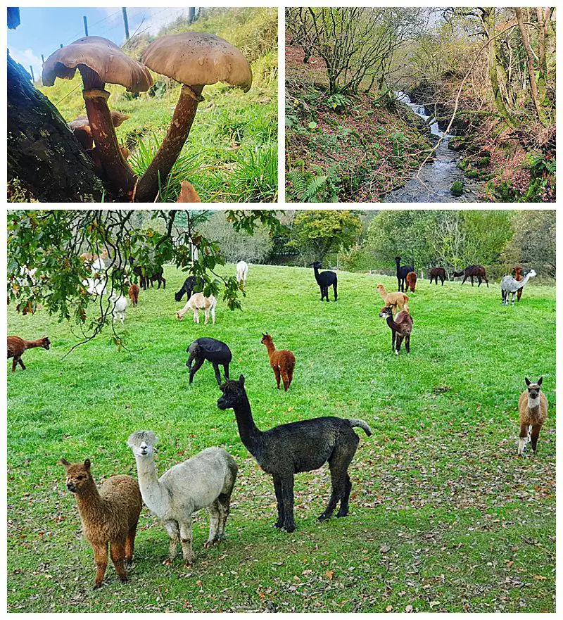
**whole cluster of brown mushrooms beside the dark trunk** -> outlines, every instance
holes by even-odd
[[[122,199],[135,202],[156,200],[159,182],[165,182],[189,135],[198,103],[203,101],[203,87],[224,82],[247,92],[252,84],[250,65],[241,52],[224,39],[206,32],[158,37],[144,51],[142,63],[129,58],[108,39],[82,37],[47,58],[43,65],[43,84],[53,86],[57,77],[72,80],[77,69],[82,77],[87,118],[73,120],[70,128],[91,156],[101,177]],[[120,84],[129,92],[147,91],[153,85],[148,69],[183,85],[166,136],[139,178],[127,163],[129,151],[120,146],[115,135],[115,127],[129,117],[110,112],[110,93],[105,87],[106,84]],[[190,194],[184,184],[182,190],[184,196]],[[197,196],[195,191],[193,194]],[[193,195],[192,198],[196,201]]]

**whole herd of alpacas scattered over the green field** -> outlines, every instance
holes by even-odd
[[[84,255],[92,267],[92,277],[84,281],[91,295],[102,295],[106,287],[104,275],[105,255]],[[133,265],[132,265],[133,267]],[[312,263],[315,280],[320,287],[321,300],[329,301],[329,286],[333,287],[334,300],[338,300],[337,275],[334,271],[320,272],[320,262]],[[142,289],[153,286],[158,282],[166,286],[163,270],[160,268],[149,276],[141,267],[133,267],[133,272],[139,277]],[[414,293],[417,286],[417,275],[412,265],[400,265],[400,256],[396,257],[396,272],[398,291],[388,293],[382,284],[377,285],[377,291],[384,300],[384,307],[379,317],[384,318],[391,329],[391,348],[399,354],[401,344],[405,343],[405,350],[410,353],[410,335],[413,320],[408,305],[409,297],[405,289]],[[446,273],[443,267],[434,267],[430,270],[430,283],[438,279],[443,282]],[[521,293],[521,289],[530,277],[536,275],[531,270],[522,275],[521,267],[516,269],[517,277],[506,276],[501,281],[502,303],[508,303],[508,296],[512,293]],[[30,274],[25,274],[30,277]],[[241,288],[246,287],[248,265],[243,260],[236,265],[236,279]],[[463,272],[454,272],[454,277],[463,276],[463,282],[476,277],[486,281],[486,272],[482,265],[469,265]],[[139,286],[129,284],[129,299],[133,306],[139,302]],[[215,324],[215,307],[217,300],[194,289],[203,288],[203,281],[196,277],[188,277],[182,288],[175,293],[175,300],[182,300],[184,294],[187,303],[177,312],[177,319],[182,320],[186,312],[191,310],[194,322],[199,324],[199,311],[205,312],[205,324],[211,315]],[[121,294],[109,294],[112,302],[113,321],[125,321],[127,299]],[[262,334],[262,344],[265,345],[270,366],[274,372],[277,388],[284,386],[287,391],[293,380],[293,370],[296,364],[295,355],[290,350],[276,349],[270,334]],[[13,358],[12,370],[15,371],[18,363],[25,369],[22,355],[28,348],[43,347],[49,349],[50,341],[44,337],[35,341],[25,341],[18,336],[8,336],[8,359]],[[205,360],[213,365],[215,379],[220,387],[222,396],[217,400],[220,410],[232,409],[239,429],[241,442],[256,462],[267,474],[272,475],[274,492],[277,500],[277,520],[274,526],[286,532],[296,529],[293,518],[293,477],[299,472],[308,472],[329,464],[331,474],[331,495],[327,507],[318,517],[320,521],[330,519],[336,507],[336,517],[346,517],[352,483],[348,475],[348,467],[355,455],[359,436],[353,430],[360,428],[369,437],[372,429],[360,419],[345,419],[340,417],[317,417],[305,419],[289,424],[274,426],[262,431],[256,426],[253,419],[251,404],[245,388],[245,378],[241,374],[239,379],[230,379],[229,364],[232,361],[232,352],[226,343],[208,337],[194,340],[186,349],[189,353],[186,366],[189,367],[189,384],[194,375],[201,368]],[[222,366],[224,381],[221,379]],[[526,390],[519,397],[520,433],[518,455],[524,455],[526,442],[531,443],[531,450],[536,453],[538,436],[541,426],[548,415],[548,400],[541,391],[542,377],[532,383],[526,377]],[[169,550],[164,564],[172,564],[177,553],[178,543],[182,547],[184,564],[189,567],[193,564],[195,555],[191,540],[192,515],[202,508],[210,514],[209,536],[205,546],[217,545],[224,536],[225,526],[230,510],[230,500],[238,467],[234,458],[220,447],[206,448],[193,457],[175,464],[160,477],[156,471],[154,455],[157,452],[158,438],[153,431],[135,431],[128,440],[134,460],[137,464],[138,481],[132,476],[111,476],[96,486],[91,473],[89,459],[84,462],[70,463],[61,458],[59,464],[65,467],[66,486],[68,491],[76,497],[77,507],[82,521],[82,530],[94,551],[96,562],[96,578],[94,588],[100,588],[108,565],[108,551],[115,571],[123,583],[127,582],[127,567],[132,564],[134,539],[137,523],[143,503],[162,522],[169,538]]]

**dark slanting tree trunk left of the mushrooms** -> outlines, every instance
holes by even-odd
[[[58,110],[8,53],[8,198],[99,202],[104,193],[111,198]]]

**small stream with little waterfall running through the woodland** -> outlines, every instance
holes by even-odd
[[[403,101],[412,111],[424,119],[430,125],[430,132],[435,136],[435,140],[442,138],[436,151],[434,151],[434,161],[422,167],[416,177],[407,183],[390,191],[384,196],[383,202],[386,203],[475,203],[479,202],[479,194],[483,191],[483,183],[469,179],[462,170],[457,167],[460,156],[456,151],[448,148],[448,142],[453,137],[444,134],[438,127],[435,118],[426,114],[426,108],[418,103],[411,103],[410,98],[403,92],[397,93],[397,99]],[[463,194],[454,196],[450,191],[452,184],[460,181],[463,184]]]

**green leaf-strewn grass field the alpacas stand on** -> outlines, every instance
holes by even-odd
[[[234,273],[234,266],[224,267]],[[312,270],[251,265],[243,311],[221,301],[217,324],[177,322],[184,274],[141,291],[118,327],[62,356],[68,324],[39,310],[8,334],[49,335],[8,369],[8,609],[13,612],[555,612],[555,288],[526,286],[515,308],[490,289],[419,281],[411,293],[411,355],[391,353],[379,319],[379,281],[339,272],[339,302],[321,303]],[[332,297],[332,293],[331,293]],[[94,310],[93,310],[94,311]],[[296,355],[289,393],[277,391],[262,331]],[[350,515],[318,523],[327,468],[296,476],[296,524],[275,530],[271,479],[248,455],[206,362],[188,385],[186,347],[213,336],[246,377],[256,424],[322,415],[365,419],[374,430],[350,466]],[[543,374],[550,401],[538,454],[518,459],[517,400]],[[60,457],[92,460],[96,481],[137,475],[125,444],[160,437],[157,467],[212,445],[239,464],[227,539],[205,550],[208,516],[194,524],[196,563],[161,564],[167,536],[146,508],[129,583],[110,564],[92,590],[94,559],[80,534]]]

